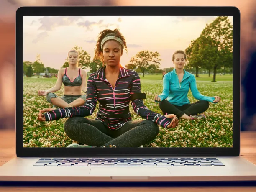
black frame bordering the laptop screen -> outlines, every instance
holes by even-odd
[[[233,147],[232,148],[26,148],[23,147],[24,16],[232,16]],[[18,157],[90,156],[239,156],[240,154],[240,11],[232,6],[84,6],[21,7],[16,11],[16,155]],[[22,84],[22,86],[20,86]],[[19,86],[17,86],[19,85]]]

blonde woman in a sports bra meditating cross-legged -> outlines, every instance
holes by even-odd
[[[82,91],[86,93],[87,79],[86,71],[78,67],[79,54],[75,50],[68,52],[69,67],[59,69],[58,79],[54,87],[46,91],[38,91],[38,95],[46,96],[46,100],[53,107],[67,108],[82,106],[86,100],[86,94],[82,95]],[[64,94],[59,97],[54,92],[61,89],[64,84]]]

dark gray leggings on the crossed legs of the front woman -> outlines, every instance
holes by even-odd
[[[100,120],[72,117],[65,122],[64,131],[69,138],[90,146],[139,147],[154,140],[159,127],[149,120],[134,120],[109,130]]]

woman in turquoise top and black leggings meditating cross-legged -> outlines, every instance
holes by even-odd
[[[164,89],[161,95],[156,95],[154,100],[159,102],[159,107],[163,114],[174,114],[178,118],[191,120],[198,117],[206,118],[204,114],[209,108],[209,102],[217,103],[219,96],[207,97],[197,90],[195,76],[184,70],[186,63],[186,54],[184,51],[175,51],[172,55],[172,61],[175,68],[164,75]],[[187,97],[189,88],[192,95],[199,101],[190,103]]]

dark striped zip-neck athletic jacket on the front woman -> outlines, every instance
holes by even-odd
[[[45,113],[46,121],[67,117],[86,117],[92,115],[97,101],[99,111],[97,120],[102,121],[110,130],[121,128],[127,121],[132,120],[129,110],[130,96],[141,93],[141,80],[136,71],[120,65],[120,72],[114,89],[105,77],[105,67],[90,74],[87,81],[86,102],[81,107],[60,108]],[[163,115],[149,110],[143,100],[138,98],[131,101],[135,113],[146,120],[151,120],[164,128],[172,121]]]

